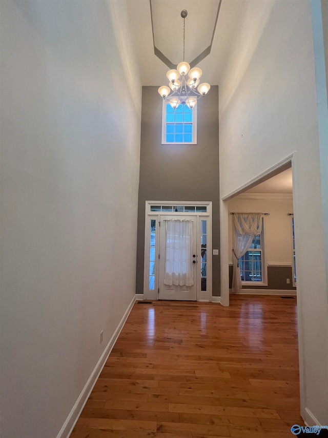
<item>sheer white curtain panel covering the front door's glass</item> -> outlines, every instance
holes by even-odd
[[[169,286],[194,284],[192,248],[192,221],[167,220],[164,284]]]

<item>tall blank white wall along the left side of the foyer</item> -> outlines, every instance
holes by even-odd
[[[124,1],[1,9],[0,435],[54,438],[135,294],[141,85]]]

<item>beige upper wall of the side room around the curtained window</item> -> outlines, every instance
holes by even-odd
[[[228,201],[230,212],[270,213],[264,216],[265,263],[290,263],[292,266],[291,217],[293,201],[277,199],[245,199],[236,196]],[[229,262],[232,263],[233,216],[229,214]]]

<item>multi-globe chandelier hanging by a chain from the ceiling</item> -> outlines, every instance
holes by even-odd
[[[170,81],[169,87],[162,85],[158,88],[160,96],[170,103],[174,111],[180,105],[187,105],[192,110],[197,100],[204,97],[211,88],[210,84],[206,82],[199,85],[199,78],[202,74],[201,69],[198,67],[190,69],[188,62],[185,62],[185,19],[187,15],[188,12],[183,9],[181,11],[181,17],[183,18],[183,62],[177,65],[176,70],[167,72],[166,76]]]

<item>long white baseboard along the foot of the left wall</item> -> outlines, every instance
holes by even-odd
[[[68,438],[70,434],[72,433],[72,430],[75,426],[75,423],[77,422],[80,413],[82,412],[85,404],[87,403],[87,400],[89,398],[89,395],[97,382],[97,379],[99,377],[99,374],[101,370],[103,370],[104,365],[106,364],[106,360],[108,359],[108,356],[110,355],[110,352],[112,351],[115,342],[124,327],[124,324],[129,316],[129,313],[131,312],[131,309],[133,307],[133,304],[135,302],[135,295],[133,296],[125,314],[122,316],[122,319],[119,321],[119,324],[111,337],[110,341],[107,344],[107,347],[105,348],[103,354],[101,354],[100,359],[98,360],[97,365],[93,369],[90,377],[88,378],[88,382],[86,383],[85,387],[83,388],[82,392],[80,393],[75,405],[73,406],[70,414],[67,417],[66,422],[64,423],[63,427],[60,429],[57,438]]]

